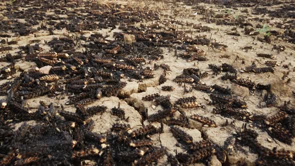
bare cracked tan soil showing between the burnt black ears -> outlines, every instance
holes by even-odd
[[[208,104],[209,96],[205,92],[193,90],[188,93],[184,93],[183,85],[179,85],[172,80],[175,78],[176,75],[179,75],[182,73],[182,70],[187,67],[198,67],[201,71],[207,71],[209,73],[208,77],[202,78],[201,83],[205,83],[207,85],[211,84],[218,84],[222,85],[223,87],[229,87],[233,91],[234,94],[238,98],[243,99],[247,102],[248,108],[247,111],[251,113],[258,113],[258,114],[264,114],[264,115],[270,115],[278,111],[278,108],[276,107],[259,107],[262,97],[261,93],[257,92],[249,92],[248,88],[242,87],[236,84],[231,83],[229,80],[221,80],[220,76],[222,74],[219,74],[217,76],[212,75],[211,69],[208,68],[208,64],[213,63],[216,65],[221,65],[222,63],[229,63],[235,66],[238,70],[243,70],[245,66],[250,65],[252,62],[255,62],[257,66],[264,66],[264,62],[268,59],[257,57],[256,53],[263,52],[263,53],[270,53],[274,54],[276,56],[275,61],[277,61],[278,66],[275,67],[275,71],[273,73],[267,72],[267,73],[243,73],[239,72],[239,76],[243,78],[250,78],[252,81],[256,83],[270,83],[272,85],[273,92],[278,96],[278,104],[281,105],[283,101],[290,100],[292,104],[295,104],[294,96],[292,94],[292,91],[295,90],[295,72],[293,70],[295,66],[295,45],[289,42],[285,42],[284,40],[278,38],[276,39],[275,36],[270,36],[271,43],[265,43],[260,42],[256,39],[253,39],[252,36],[243,34],[243,28],[240,28],[238,26],[230,26],[230,25],[216,25],[215,23],[208,23],[204,20],[202,20],[202,15],[196,13],[196,9],[193,9],[193,5],[185,5],[182,2],[177,3],[166,3],[166,2],[155,2],[155,1],[140,1],[139,3],[134,2],[132,0],[115,0],[115,1],[108,1],[108,2],[114,2],[114,3],[121,3],[121,4],[130,4],[130,5],[147,5],[148,7],[154,8],[159,11],[159,13],[162,15],[162,17],[168,17],[172,16],[175,20],[183,21],[183,22],[193,22],[195,24],[201,23],[203,26],[208,26],[212,30],[209,32],[197,32],[194,28],[189,26],[177,26],[179,30],[191,30],[192,32],[189,34],[191,36],[204,34],[207,36],[211,36],[211,38],[216,39],[216,41],[227,45],[228,47],[225,48],[225,50],[219,50],[219,49],[212,49],[209,48],[207,45],[197,45],[198,48],[202,49],[206,53],[206,57],[209,59],[207,61],[191,61],[187,62],[184,59],[176,58],[174,56],[173,51],[169,51],[168,49],[164,48],[164,58],[160,59],[158,61],[153,61],[150,64],[146,64],[146,66],[153,66],[154,63],[161,64],[165,63],[170,66],[171,71],[167,72],[167,81],[163,84],[158,83],[159,75],[163,72],[161,69],[158,69],[155,71],[155,77],[151,79],[145,79],[142,82],[138,82],[136,80],[128,80],[127,78],[124,78],[127,81],[127,86],[124,87],[121,90],[122,94],[130,94],[129,98],[125,98],[124,100],[119,99],[118,97],[103,97],[91,105],[97,105],[97,104],[103,104],[107,106],[106,112],[104,112],[101,115],[94,115],[92,119],[95,121],[95,127],[93,131],[98,133],[106,133],[107,130],[111,127],[112,123],[119,121],[119,119],[116,116],[113,116],[110,113],[110,109],[118,103],[120,103],[120,106],[124,108],[126,117],[129,117],[129,120],[127,123],[130,124],[132,129],[138,128],[141,126],[141,116],[138,113],[137,110],[142,110],[144,108],[148,109],[148,114],[155,113],[158,109],[160,109],[160,106],[154,106],[152,102],[150,101],[143,101],[141,98],[147,94],[152,93],[160,93],[161,95],[170,95],[171,101],[175,101],[178,98],[181,97],[187,97],[187,96],[196,96],[197,102],[204,105],[203,108],[193,108],[193,109],[187,109],[185,110],[185,113],[187,116],[190,116],[192,114],[201,114],[206,117],[210,117],[212,120],[214,120],[217,124],[217,127],[206,127],[201,126],[200,123],[190,120],[189,121],[189,128],[183,128],[184,131],[186,131],[188,134],[190,134],[193,137],[193,141],[197,142],[200,141],[201,138],[201,132],[204,132],[208,138],[213,141],[214,143],[222,146],[224,144],[224,141],[226,138],[231,136],[233,133],[237,132],[239,128],[242,126],[243,123],[248,123],[248,126],[251,126],[250,122],[244,122],[236,119],[231,119],[227,117],[223,117],[221,115],[215,114],[212,112],[212,105]],[[214,5],[214,4],[206,4],[206,3],[199,3],[199,6],[204,6],[207,9],[212,9],[216,12],[222,12],[222,10],[226,10],[225,6],[220,5]],[[262,17],[267,18],[265,22],[257,22],[257,21],[251,21],[253,24],[257,23],[267,23],[270,25],[271,30],[277,30],[279,32],[283,32],[283,29],[276,28],[274,25],[274,22],[280,22],[282,21],[279,18],[269,19],[267,16],[262,15],[253,15],[250,14],[250,12],[242,13],[241,10],[243,10],[243,7],[237,7],[237,9],[233,10],[231,14],[233,16],[235,15],[246,15],[248,18],[255,18],[255,17]],[[247,9],[250,11],[251,8],[247,7]],[[229,9],[232,10],[232,9]],[[194,14],[195,13],[195,14]],[[139,26],[139,23],[137,24]],[[226,32],[231,31],[233,27],[236,27],[236,31],[239,32],[240,36],[232,36],[227,35]],[[114,29],[112,31],[108,31],[107,29],[104,30],[102,33],[110,34],[112,36],[112,33],[114,31],[119,31],[118,29]],[[99,30],[101,32],[101,30]],[[41,44],[40,46],[45,48],[43,52],[49,51],[49,47],[44,44],[44,40],[51,40],[52,37],[59,37],[59,36],[70,36],[72,35],[70,32],[66,31],[65,29],[62,30],[56,30],[54,31],[54,35],[48,35],[45,32],[38,32],[35,34],[29,34],[28,36],[21,36],[21,37],[13,37],[18,38],[18,43],[15,45],[10,45],[12,47],[17,47],[18,45],[25,45],[28,43],[31,39],[40,39]],[[85,36],[89,36],[92,32],[86,33]],[[109,39],[111,39],[111,36]],[[282,44],[286,48],[284,51],[277,52],[276,50],[271,50],[273,44]],[[244,51],[241,49],[241,47],[244,46],[252,46],[252,49],[249,49],[248,51]],[[9,53],[14,53],[18,51],[19,49],[13,49],[12,51],[9,51]],[[7,52],[0,52],[0,55],[5,55]],[[181,52],[178,52],[181,53]],[[226,58],[222,57],[222,55],[227,55]],[[242,63],[242,61],[244,63]],[[0,62],[1,66],[6,65],[6,62]],[[20,60],[16,63],[20,66],[21,69],[26,69],[29,67],[34,66],[35,64],[33,62],[27,62],[24,60]],[[283,68],[283,64],[288,64],[288,68]],[[286,80],[282,80],[281,77],[283,76],[284,72],[289,71],[288,78],[291,78],[288,83],[286,83]],[[19,74],[19,73],[18,73]],[[17,75],[17,74],[16,74]],[[1,80],[0,83],[3,83],[7,80]],[[172,85],[175,87],[173,91],[162,91],[161,86],[164,85]],[[189,88],[189,85],[187,85]],[[5,98],[5,96],[1,96],[1,98]],[[56,98],[48,98],[47,96],[41,96],[38,98],[31,98],[27,100],[27,105],[31,107],[32,109],[37,109],[39,106],[39,100],[43,100],[45,102],[53,102],[54,105],[59,105],[60,103],[64,104],[67,100],[67,97],[65,96],[64,99],[56,99]],[[89,106],[91,106],[89,105]],[[68,111],[74,111],[74,107],[72,105],[65,105],[65,110]],[[179,113],[176,112],[174,115],[175,117],[179,116]],[[230,125],[221,126],[225,120],[228,120]],[[144,124],[148,124],[149,122],[146,120],[143,122]],[[159,126],[158,122],[152,123],[155,126]],[[15,124],[16,126],[19,126],[19,124]],[[260,130],[259,128],[252,127],[251,129],[254,129],[257,131],[258,135],[258,142],[261,143],[263,146],[268,148],[285,148],[289,150],[295,149],[295,139],[293,139],[293,142],[291,145],[287,145],[285,143],[282,143],[278,140],[273,140],[265,131]],[[160,134],[152,135],[151,137],[154,140],[155,145],[162,145],[167,147],[168,151],[172,154],[175,154],[177,152],[182,152],[184,149],[177,146],[176,139],[172,136],[171,132],[168,129],[168,126],[164,124],[164,132]],[[229,163],[230,165],[235,165],[239,160],[245,160],[247,165],[254,165],[254,161],[257,158],[257,154],[249,152],[247,147],[243,147],[248,153],[241,152],[237,150],[235,153],[228,155]],[[216,159],[216,157],[212,157],[211,164],[210,165],[221,165],[221,163]],[[159,161],[159,165],[165,165],[166,156],[161,158]],[[203,165],[203,164],[194,164],[194,165]]]

